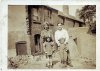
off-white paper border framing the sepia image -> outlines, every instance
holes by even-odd
[[[49,69],[7,69],[8,50],[8,5],[96,5],[96,69],[81,69],[91,71],[100,69],[100,1],[99,0],[1,0],[0,1],[0,70],[3,71],[45,71]],[[53,69],[62,71],[62,69]],[[65,70],[65,69],[63,69]],[[80,69],[67,69],[80,70]]]

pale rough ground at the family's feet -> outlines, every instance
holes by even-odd
[[[9,69],[48,69],[46,67],[47,59],[45,55],[23,55],[16,56],[15,49],[8,50],[10,55],[8,57],[8,68]],[[12,65],[9,60],[12,60]],[[96,60],[88,59],[84,57],[78,57],[76,59],[72,59],[73,67],[67,66],[64,67],[63,64],[60,63],[58,51],[53,55],[53,68],[52,69],[95,69],[96,68]]]

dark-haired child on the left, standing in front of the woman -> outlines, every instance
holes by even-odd
[[[48,59],[47,66],[49,68],[52,67],[52,54],[54,49],[54,43],[51,40],[51,37],[46,38],[46,42],[43,44],[44,46],[44,52],[46,53],[46,58]]]

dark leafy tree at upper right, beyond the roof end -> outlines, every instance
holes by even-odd
[[[85,5],[79,11],[79,17],[89,25],[91,32],[92,30],[96,32],[96,5]]]

